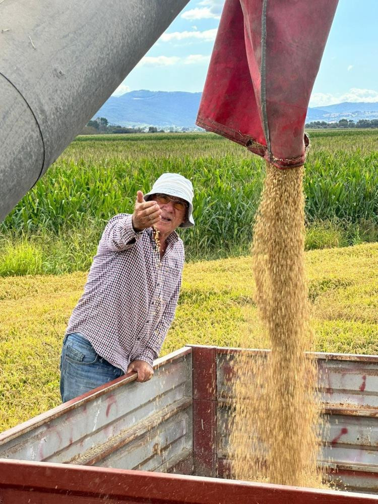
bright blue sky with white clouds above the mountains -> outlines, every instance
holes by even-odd
[[[223,4],[191,0],[114,95],[202,91]],[[378,0],[339,0],[310,106],[378,101],[377,26]]]

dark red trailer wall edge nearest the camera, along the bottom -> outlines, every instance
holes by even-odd
[[[22,478],[20,478],[22,474]],[[377,504],[372,495],[121,469],[0,460],[0,502],[17,504]]]

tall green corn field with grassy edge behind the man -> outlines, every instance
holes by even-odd
[[[316,130],[309,136],[306,247],[376,241],[378,132]],[[132,212],[137,190],[147,192],[165,171],[194,183],[196,226],[181,232],[187,259],[247,254],[262,159],[207,133],[83,136],[0,226],[0,275],[88,269],[105,222],[117,212]],[[36,257],[28,269],[30,250]]]

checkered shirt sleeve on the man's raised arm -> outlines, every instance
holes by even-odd
[[[141,232],[134,231],[132,215],[117,214],[106,224],[100,245],[107,250],[119,252],[132,247]]]

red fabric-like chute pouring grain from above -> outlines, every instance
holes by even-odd
[[[197,124],[301,166],[304,122],[338,0],[226,0]]]

